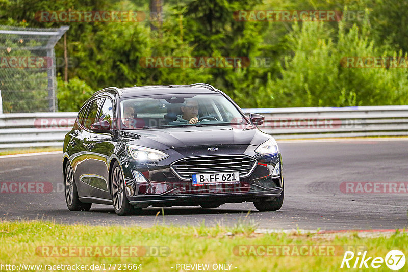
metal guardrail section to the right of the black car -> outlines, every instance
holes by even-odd
[[[408,135],[408,105],[248,108],[265,116],[259,128],[276,139]]]

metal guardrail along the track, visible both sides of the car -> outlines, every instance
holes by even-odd
[[[247,108],[276,139],[408,135],[408,105]],[[0,149],[62,146],[77,113],[0,114]]]

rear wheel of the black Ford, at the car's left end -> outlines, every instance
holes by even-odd
[[[89,211],[91,209],[92,203],[82,203],[78,198],[77,184],[69,162],[64,169],[64,192],[65,202],[70,211]]]

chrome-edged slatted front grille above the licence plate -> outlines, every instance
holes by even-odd
[[[239,172],[242,178],[250,174],[256,162],[242,155],[191,157],[174,162],[171,168],[183,180],[190,180],[193,174],[220,172]]]

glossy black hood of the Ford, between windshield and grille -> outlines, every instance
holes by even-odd
[[[209,126],[166,129],[125,130],[122,141],[158,150],[204,145],[255,145],[268,140],[270,135],[253,125],[245,127]]]

